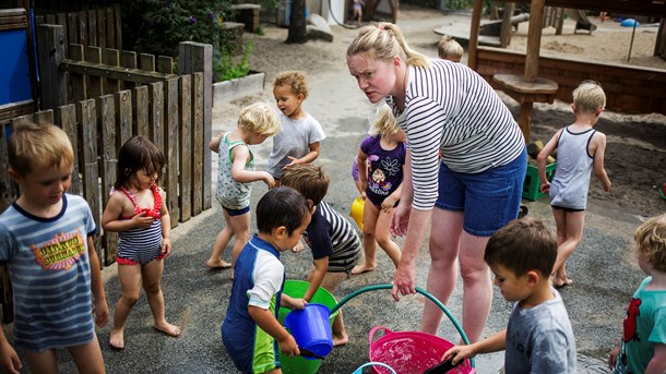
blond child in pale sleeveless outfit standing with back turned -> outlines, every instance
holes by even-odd
[[[610,180],[604,169],[606,135],[593,130],[605,110],[604,89],[592,81],[585,81],[573,92],[571,108],[575,122],[559,130],[537,156],[540,179],[539,190],[550,192],[550,206],[557,226],[557,261],[552,274],[556,288],[569,286],[566,262],[583,237],[590,171],[602,181],[604,191],[610,189]],[[546,178],[546,158],[557,148],[557,169],[552,182]]]

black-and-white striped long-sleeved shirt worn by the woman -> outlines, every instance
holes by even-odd
[[[388,96],[412,153],[413,206],[429,209],[438,196],[439,153],[451,170],[478,173],[520,156],[525,143],[492,87],[461,63],[433,59],[409,67],[405,110]]]

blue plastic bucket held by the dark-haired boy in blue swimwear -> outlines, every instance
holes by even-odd
[[[330,314],[331,311],[326,305],[310,303],[301,311],[287,314],[285,326],[299,348],[311,350],[314,354],[326,355],[333,349]]]

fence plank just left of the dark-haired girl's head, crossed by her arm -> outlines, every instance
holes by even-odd
[[[102,156],[102,197],[103,206],[106,208],[109,193],[117,178],[118,145],[116,143],[116,102],[114,95],[105,95],[98,100],[100,120],[100,148]],[[102,238],[104,248],[104,265],[109,266],[116,262],[118,256],[118,233],[104,232]]]

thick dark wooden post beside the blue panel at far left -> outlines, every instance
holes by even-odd
[[[64,28],[60,25],[38,25],[37,44],[41,109],[56,109],[67,105],[67,77],[58,69],[64,59]]]

